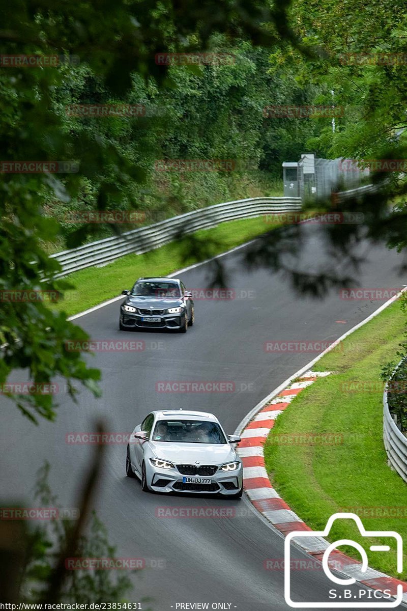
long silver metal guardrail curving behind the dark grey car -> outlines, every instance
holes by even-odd
[[[254,197],[236,202],[218,203],[122,233],[120,236],[104,238],[69,251],[57,252],[51,255],[51,258],[55,258],[62,265],[62,272],[56,277],[67,276],[79,269],[106,265],[129,253],[140,255],[152,251],[180,235],[193,233],[199,229],[210,229],[220,222],[297,210],[301,210],[299,197]]]

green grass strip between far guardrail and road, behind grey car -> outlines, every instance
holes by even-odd
[[[131,288],[140,276],[167,276],[185,265],[198,263],[244,244],[278,224],[265,222],[262,216],[229,221],[213,229],[200,230],[182,241],[167,244],[143,255],[126,255],[102,268],[82,269],[67,277],[74,288],[65,291],[63,300],[54,307],[72,316],[120,295],[123,288]],[[191,244],[196,246],[194,254],[186,256]]]

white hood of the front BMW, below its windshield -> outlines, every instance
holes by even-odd
[[[151,450],[157,458],[175,464],[216,464],[236,460],[236,452],[229,444],[177,444],[175,442],[151,441]]]

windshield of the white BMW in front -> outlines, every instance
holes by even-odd
[[[151,439],[181,444],[227,443],[222,429],[216,422],[203,420],[158,420]]]

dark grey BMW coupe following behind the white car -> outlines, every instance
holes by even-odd
[[[119,329],[175,329],[186,333],[195,322],[192,293],[177,278],[139,278],[120,305]]]

